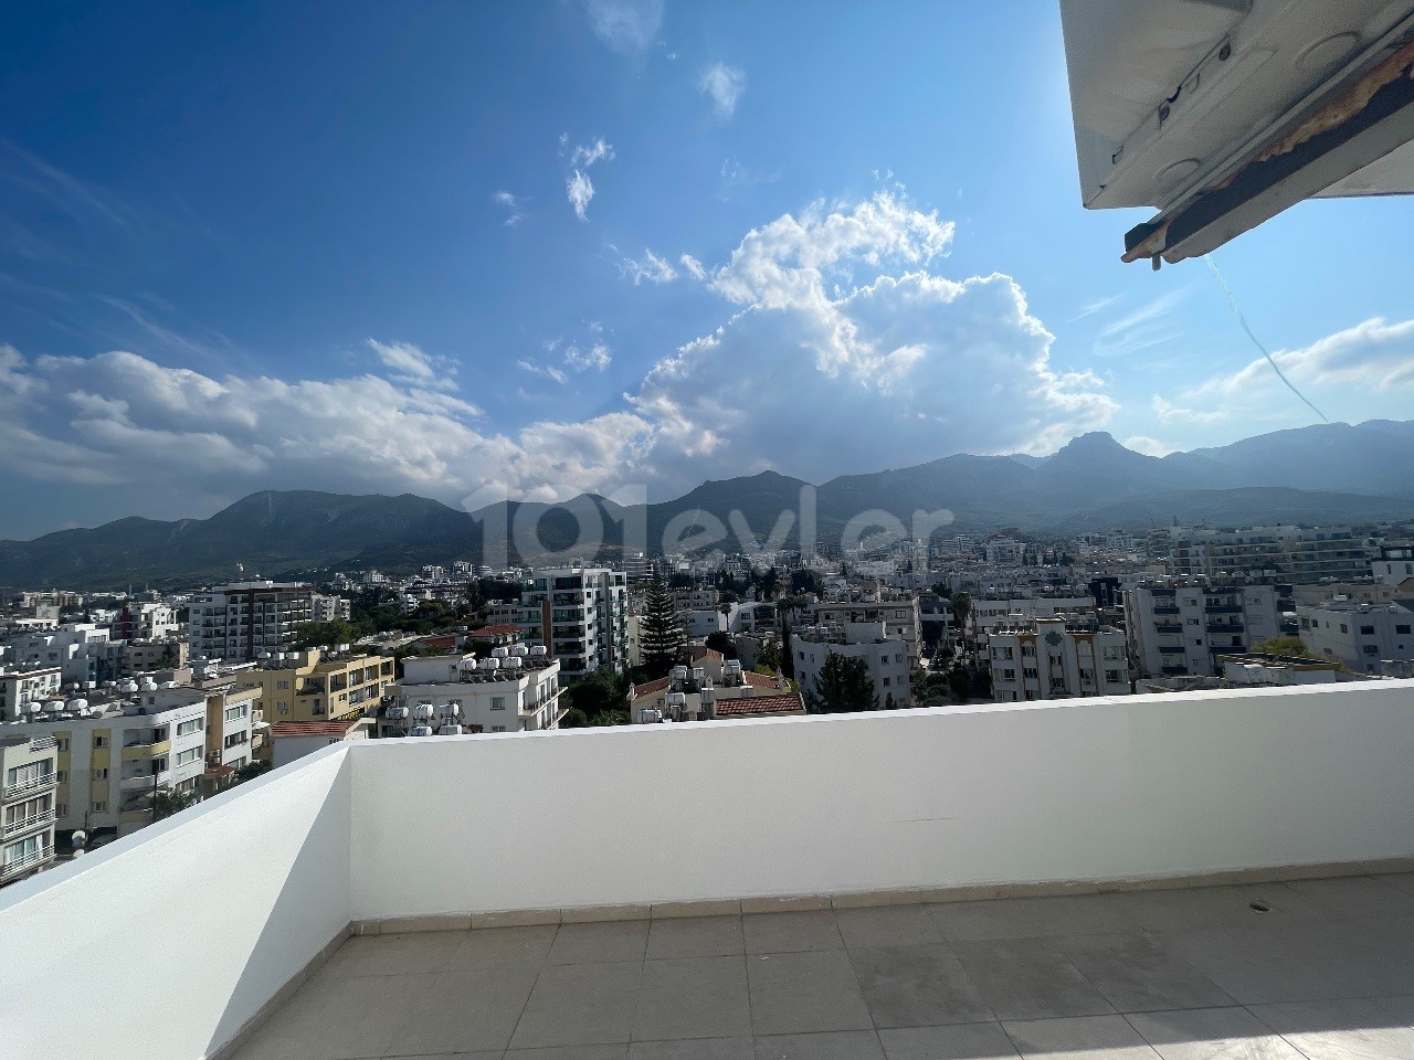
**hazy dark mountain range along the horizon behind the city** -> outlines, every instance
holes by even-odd
[[[1319,424],[1161,458],[1093,432],[1049,457],[959,454],[831,479],[814,488],[816,540],[837,543],[848,520],[870,509],[892,513],[905,526],[918,510],[946,509],[959,530],[1005,526],[1042,534],[1143,529],[1174,519],[1213,526],[1374,523],[1414,516],[1410,468],[1414,421]],[[704,514],[727,524],[735,512],[738,524],[744,519],[765,538],[782,512],[799,507],[807,488],[766,471],[704,482],[642,509],[585,495],[568,509],[510,505],[475,513],[411,493],[264,490],[209,519],[129,517],[33,541],[0,541],[0,585],[92,589],[228,581],[238,577],[238,564],[246,577],[280,577],[331,565],[406,571],[454,558],[479,561],[484,527],[505,526],[516,514],[537,520],[542,548],[568,547],[577,529],[571,510],[584,505],[605,520],[609,558],[622,546],[625,524],[645,526],[656,546],[667,529],[690,530]],[[727,551],[738,550],[735,540]],[[796,541],[792,530],[786,544]],[[534,551],[512,548],[510,558],[533,561]]]

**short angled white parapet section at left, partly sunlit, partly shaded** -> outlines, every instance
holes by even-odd
[[[348,927],[344,745],[0,890],[0,1056],[195,1060]]]

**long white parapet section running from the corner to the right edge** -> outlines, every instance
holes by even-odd
[[[1414,683],[355,749],[354,907],[1172,879],[1414,855]]]

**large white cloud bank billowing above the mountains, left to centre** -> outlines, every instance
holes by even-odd
[[[263,488],[458,503],[633,483],[673,495],[765,468],[820,482],[956,451],[1049,452],[1104,427],[1116,404],[1103,382],[1052,365],[1052,338],[1012,278],[942,274],[952,239],[936,212],[878,194],[776,218],[715,267],[680,259],[721,298],[720,326],[662,356],[622,404],[518,430],[438,387],[448,366],[407,342],[370,341],[375,372],[328,380],[0,348],[0,468],[75,486],[164,483],[178,512]],[[1408,326],[1379,322],[1372,336],[1389,331],[1393,348]],[[1333,349],[1315,359],[1350,370]],[[567,384],[614,356],[587,325],[547,343],[543,363],[518,363]]]

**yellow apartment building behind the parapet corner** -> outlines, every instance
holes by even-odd
[[[378,708],[393,685],[393,660],[386,656],[352,654],[348,644],[325,653],[276,652],[255,667],[242,670],[236,681],[259,688],[266,719],[328,721],[356,718]]]

